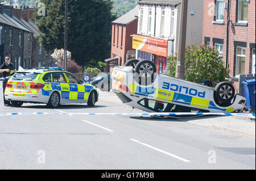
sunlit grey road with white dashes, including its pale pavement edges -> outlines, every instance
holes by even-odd
[[[95,107],[64,104],[51,109],[46,104],[30,103],[4,107],[1,102],[0,92],[0,112],[142,112],[122,104],[114,92],[100,92]],[[231,129],[228,123],[237,127]],[[254,126],[254,136],[247,124]],[[95,169],[104,173],[112,169],[255,170],[255,122],[221,116],[1,116],[1,169]]]

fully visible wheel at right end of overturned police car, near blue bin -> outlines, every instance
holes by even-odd
[[[220,82],[214,88],[214,95],[221,103],[230,103],[234,98],[234,86],[229,82]]]

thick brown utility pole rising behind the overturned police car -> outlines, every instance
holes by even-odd
[[[185,48],[187,33],[188,0],[181,0],[179,44],[175,77],[185,79]]]

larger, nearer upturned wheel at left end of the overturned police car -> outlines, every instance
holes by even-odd
[[[134,79],[143,86],[151,85],[156,78],[155,64],[150,60],[139,61],[135,66]]]

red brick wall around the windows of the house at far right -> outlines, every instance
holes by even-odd
[[[225,0],[228,2],[228,0]],[[214,46],[212,38],[224,39],[223,44],[223,61],[226,62],[226,17],[227,11],[224,14],[224,23],[213,23],[214,20],[214,0],[204,1],[204,20],[203,20],[203,43],[204,37],[210,37],[210,45]],[[248,3],[248,19],[246,25],[238,25],[237,21],[238,1],[230,0],[230,22],[229,24],[229,43],[228,43],[228,69],[230,70],[230,77],[233,78],[234,86],[238,89],[238,79],[236,76],[236,49],[234,42],[246,42],[246,56],[245,56],[245,74],[251,73],[252,49],[250,43],[255,45],[255,0]]]

